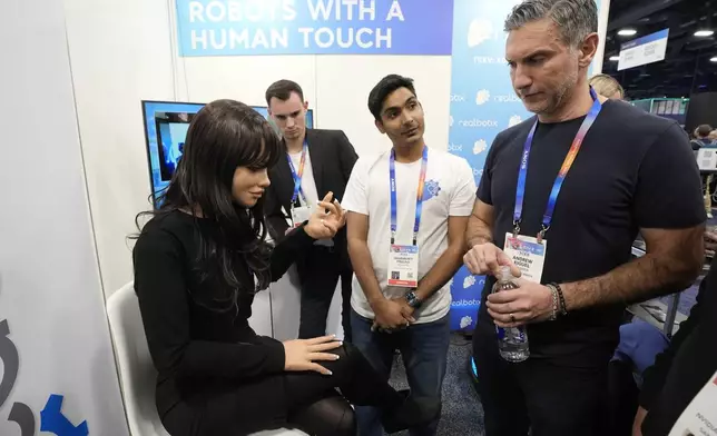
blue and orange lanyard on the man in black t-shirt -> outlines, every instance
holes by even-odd
[[[568,171],[570,171],[570,168],[572,167],[572,164],[578,156],[578,151],[580,151],[580,147],[582,146],[582,141],[585,140],[586,135],[588,135],[588,131],[592,127],[595,120],[598,118],[600,110],[602,110],[602,105],[600,103],[598,95],[595,92],[592,87],[590,87],[590,97],[592,97],[592,107],[590,108],[588,116],[582,121],[578,133],[572,140],[572,146],[570,146],[568,156],[566,156],[566,159],[562,162],[562,167],[560,168],[560,172],[558,172],[558,177],[552,185],[550,198],[548,199],[548,206],[546,207],[546,212],[542,217],[542,228],[538,234],[538,241],[541,241],[544,238],[546,231],[548,231],[548,229],[550,228],[550,224],[552,222],[552,214],[556,210],[556,204],[558,202],[558,195],[560,194],[560,189],[562,188],[562,182],[566,180]],[[533,123],[533,127],[532,129],[530,129],[530,133],[528,133],[528,138],[526,139],[526,145],[523,146],[523,153],[520,161],[520,170],[518,172],[518,188],[515,189],[515,210],[513,212],[513,235],[515,236],[520,232],[520,221],[523,214],[523,198],[526,197],[526,177],[528,176],[528,161],[530,158],[530,149],[532,147],[537,128],[538,120],[536,120],[536,122]]]

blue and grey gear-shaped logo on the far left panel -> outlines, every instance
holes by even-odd
[[[18,378],[20,358],[18,348],[10,339],[8,320],[0,321],[0,360],[3,365],[2,380],[0,380],[0,409],[10,397],[12,387]],[[40,412],[40,432],[52,433],[56,436],[87,436],[89,430],[87,422],[75,426],[62,415],[61,395],[50,395],[42,412]],[[23,403],[13,403],[8,420],[20,426],[20,436],[35,436],[35,413]]]

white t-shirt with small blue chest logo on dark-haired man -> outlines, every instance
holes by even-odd
[[[369,216],[369,250],[379,286],[387,298],[404,296],[406,288],[387,286],[389,249],[391,246],[391,191],[389,158],[391,150],[362,156],[356,162],[342,206],[348,211]],[[413,242],[415,200],[421,174],[421,159],[395,164],[396,168],[396,241]],[[419,279],[425,276],[448,248],[448,219],[468,217],[475,202],[475,180],[468,161],[445,151],[429,149],[423,209],[419,228]],[[374,314],[354,276],[351,306],[365,318]],[[414,317],[416,323],[431,323],[444,317],[451,307],[446,284],[423,303]]]

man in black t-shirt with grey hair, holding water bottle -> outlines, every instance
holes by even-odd
[[[537,117],[495,138],[466,234],[466,266],[491,276],[473,336],[487,436],[609,434],[601,407],[626,304],[681,290],[701,267],[689,141],[591,92],[597,27],[592,0],[528,0],[505,22],[511,80]],[[638,231],[647,254],[629,261]],[[520,287],[489,296],[500,266],[522,272]],[[497,326],[527,328],[527,360],[500,357]]]

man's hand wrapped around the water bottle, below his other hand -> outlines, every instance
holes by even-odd
[[[488,296],[488,314],[498,327],[520,327],[548,320],[552,315],[552,293],[547,286],[515,279],[518,289]]]

